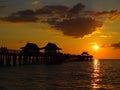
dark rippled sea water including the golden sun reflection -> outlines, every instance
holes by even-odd
[[[0,67],[0,90],[120,90],[120,60]]]

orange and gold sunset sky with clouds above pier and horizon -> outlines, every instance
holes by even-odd
[[[20,49],[27,42],[120,58],[120,0],[0,0],[0,46]]]

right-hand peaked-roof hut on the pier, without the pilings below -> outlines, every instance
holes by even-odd
[[[43,47],[42,49],[44,49],[44,53],[46,55],[54,55],[59,53],[59,50],[61,50],[61,48],[59,48],[56,44],[54,43],[48,43],[45,47]]]

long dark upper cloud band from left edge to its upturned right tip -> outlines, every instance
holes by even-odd
[[[3,17],[2,20],[9,22],[36,22],[38,20],[41,21],[41,18],[43,20],[44,16],[51,19],[55,17],[58,19],[73,18],[76,17],[84,7],[85,6],[81,3],[73,6],[72,8],[63,5],[44,6],[36,10],[18,11],[7,17]],[[44,18],[45,20],[46,17]]]

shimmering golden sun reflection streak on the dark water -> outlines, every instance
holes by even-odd
[[[93,61],[93,72],[91,74],[92,80],[91,80],[91,85],[93,89],[99,89],[101,87],[100,82],[102,81],[101,79],[102,73],[100,70],[100,63],[99,60],[94,60]]]

